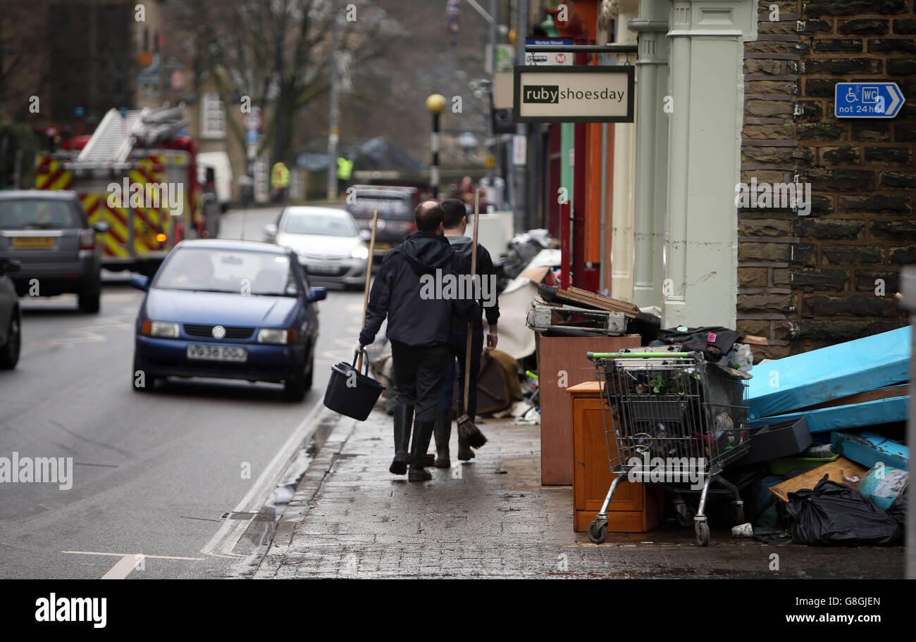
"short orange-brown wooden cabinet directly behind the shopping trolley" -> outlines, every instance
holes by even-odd
[[[605,501],[615,475],[611,473],[605,444],[605,418],[597,381],[568,389],[573,424],[573,530],[584,531]],[[608,429],[613,431],[608,413]],[[608,434],[611,453],[616,456],[613,432]],[[661,489],[645,484],[621,482],[607,511],[610,532],[643,533],[661,521]]]

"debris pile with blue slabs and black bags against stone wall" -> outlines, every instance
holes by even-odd
[[[901,327],[755,367],[755,432],[737,465],[754,477],[746,505],[758,540],[902,543],[911,333]],[[737,532],[750,535],[745,526]]]

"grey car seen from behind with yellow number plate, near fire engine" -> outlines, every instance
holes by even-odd
[[[76,192],[0,192],[0,259],[22,264],[10,274],[19,296],[77,294],[82,312],[98,312],[102,247],[95,235],[110,229],[104,220],[89,224]]]

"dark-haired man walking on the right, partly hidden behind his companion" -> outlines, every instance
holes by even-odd
[[[457,198],[447,198],[442,201],[442,210],[445,212],[443,227],[445,238],[451,243],[458,257],[458,271],[462,274],[471,273],[471,254],[474,241],[464,236],[467,229],[467,210],[463,201]],[[486,325],[489,330],[486,335],[486,349],[496,348],[496,321],[499,319],[499,303],[496,299],[496,270],[490,252],[477,243],[476,273],[480,275],[480,299],[474,302],[474,321],[471,332],[471,383],[467,400],[467,415],[474,421],[477,411],[477,373],[480,371],[480,355],[484,349],[484,324],[481,314],[486,316]],[[452,436],[452,396],[454,381],[458,380],[458,415],[461,416],[464,405],[464,358],[467,356],[467,326],[466,320],[453,320],[451,354],[449,355],[449,370],[442,387],[442,397],[436,404],[436,460],[433,465],[437,468],[448,468],[452,465],[449,459],[449,439]],[[458,358],[458,369],[455,369],[455,358]],[[458,459],[467,461],[474,457],[474,451],[458,433]]]

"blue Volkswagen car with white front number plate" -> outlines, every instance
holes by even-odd
[[[318,306],[296,255],[254,241],[181,241],[136,316],[133,386],[165,377],[283,382],[289,401],[311,388]]]

